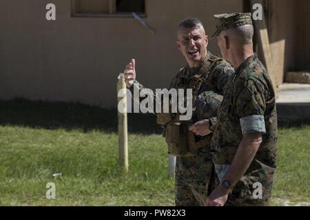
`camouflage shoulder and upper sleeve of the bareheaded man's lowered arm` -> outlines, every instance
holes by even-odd
[[[214,68],[212,83],[213,85],[216,85],[216,89],[220,91],[220,94],[224,93],[227,80],[232,74],[234,74],[234,72],[234,68],[227,62],[220,63]]]

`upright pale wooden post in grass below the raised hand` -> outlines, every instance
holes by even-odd
[[[118,164],[128,171],[128,136],[127,136],[127,94],[124,75],[118,76],[117,82],[118,104]]]

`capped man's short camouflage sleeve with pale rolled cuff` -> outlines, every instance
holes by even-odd
[[[247,80],[245,87],[238,92],[235,109],[240,118],[242,133],[266,133],[265,97],[261,88],[256,80]]]

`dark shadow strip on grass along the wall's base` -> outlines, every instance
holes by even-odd
[[[152,114],[128,113],[128,132],[161,133]],[[80,103],[30,101],[16,98],[0,101],[0,125],[42,129],[81,129],[117,132],[117,110],[91,107]]]

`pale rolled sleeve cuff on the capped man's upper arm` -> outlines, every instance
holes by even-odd
[[[249,115],[240,118],[241,131],[243,133],[266,133],[264,115]]]

